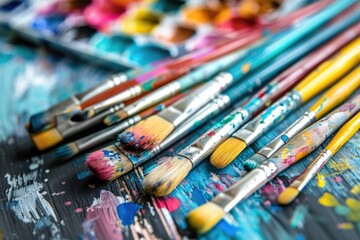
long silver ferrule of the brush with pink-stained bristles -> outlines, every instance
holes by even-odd
[[[230,106],[230,98],[227,95],[218,95],[210,103],[201,108],[199,112],[176,128],[176,130],[173,131],[167,138],[165,138],[164,141],[162,141],[157,147],[152,149],[152,151],[154,151],[154,155],[171,146],[173,143],[189,133],[189,131],[196,128],[198,125],[203,124],[228,106]]]

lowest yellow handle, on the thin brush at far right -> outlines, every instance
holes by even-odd
[[[334,155],[360,128],[360,112],[340,128],[335,137],[331,140],[329,145],[326,146]]]

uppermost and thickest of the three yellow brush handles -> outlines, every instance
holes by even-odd
[[[333,84],[360,61],[360,37],[343,47],[334,57],[322,63],[296,87],[302,102]]]

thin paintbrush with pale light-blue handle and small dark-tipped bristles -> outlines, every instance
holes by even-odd
[[[132,116],[147,107],[162,101],[177,92],[184,91],[200,82],[206,81],[208,78],[213,77],[216,73],[223,69],[229,68],[233,63],[244,57],[252,48],[256,47],[260,42],[253,44],[251,47],[238,50],[235,53],[226,55],[204,66],[195,69],[189,74],[180,77],[179,79],[155,90],[151,94],[136,101],[133,104],[126,106],[124,109],[111,114],[104,120],[105,124],[113,124],[114,122],[121,121],[122,119]]]

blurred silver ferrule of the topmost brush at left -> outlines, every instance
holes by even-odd
[[[116,87],[126,81],[128,81],[129,78],[127,77],[127,75],[125,73],[118,73],[118,74],[114,74],[112,76],[109,77],[109,79],[107,79],[105,82],[100,83],[99,85],[91,88],[90,90],[84,92],[84,93],[79,93],[77,95],[75,95],[80,102],[85,102],[88,101],[89,99],[104,93],[106,91],[108,91],[109,89]]]

